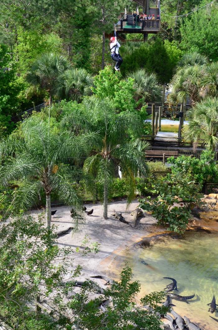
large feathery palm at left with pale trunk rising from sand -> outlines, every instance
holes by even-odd
[[[71,182],[75,181],[76,168],[66,166],[68,157],[79,159],[88,154],[90,135],[81,137],[63,132],[56,135],[47,122],[38,118],[26,119],[21,128],[22,139],[11,135],[1,144],[4,162],[0,168],[0,183],[8,186],[19,181],[14,204],[28,209],[38,205],[41,196],[46,196],[46,225],[51,225],[51,193],[76,211],[74,230],[84,222],[82,201]]]

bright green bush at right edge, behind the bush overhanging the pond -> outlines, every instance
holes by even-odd
[[[174,164],[171,169],[175,175],[190,174],[196,182],[217,182],[218,166],[214,162],[214,152],[203,150],[200,158],[179,156],[168,158],[168,163]]]

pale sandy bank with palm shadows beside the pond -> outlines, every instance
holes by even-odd
[[[58,245],[60,247],[72,247],[74,250],[77,247],[80,249],[83,248],[81,247],[81,241],[85,235],[91,238],[90,242],[98,242],[100,244],[100,251],[97,254],[89,253],[87,256],[75,259],[74,266],[76,267],[80,264],[83,267],[81,276],[79,277],[81,281],[93,275],[107,276],[107,268],[110,262],[112,262],[114,255],[118,254],[123,248],[130,246],[145,236],[148,236],[150,234],[151,225],[156,223],[155,218],[146,214],[143,217],[139,217],[135,227],[132,228],[131,226],[120,222],[118,219],[115,219],[115,217],[111,215],[114,210],[122,213],[124,219],[133,225],[133,216],[131,216],[130,213],[139,205],[137,200],[130,205],[127,213],[125,213],[125,199],[112,202],[108,209],[107,220],[103,219],[101,203],[86,203],[84,205],[87,210],[86,225],[83,229],[78,232],[76,236],[72,236],[72,233],[69,233],[58,238]],[[93,215],[88,216],[87,212],[91,209],[94,209]],[[57,231],[66,230],[72,226],[72,218],[70,217],[68,207],[61,206],[52,208],[52,211],[54,210],[57,210],[57,212],[52,216],[52,224],[58,226]],[[39,212],[41,211],[32,211],[32,214],[36,215]],[[155,231],[155,229],[155,227],[152,228],[152,231]],[[105,283],[103,280],[97,281],[99,284]]]

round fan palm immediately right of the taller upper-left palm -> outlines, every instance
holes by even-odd
[[[56,94],[69,97],[77,103],[81,102],[83,96],[91,95],[90,87],[93,87],[93,77],[85,69],[72,68],[57,78]]]

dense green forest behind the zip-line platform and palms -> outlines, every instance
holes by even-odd
[[[122,35],[127,39],[121,41],[120,49],[123,77],[145,68],[157,74],[160,85],[169,84],[178,60],[186,52],[198,51],[209,61],[217,61],[218,3],[206,4],[206,0],[161,1],[158,36],[149,34],[148,43],[140,43],[130,40],[142,39],[141,34]],[[46,90],[33,88],[25,79],[34,60],[42,53],[53,52],[67,57],[75,68],[98,74],[102,67],[112,64],[108,39],[102,61],[104,33],[114,30],[124,8],[132,11],[136,6],[126,0],[1,0],[0,122],[7,134],[15,127],[11,117],[49,98]]]

